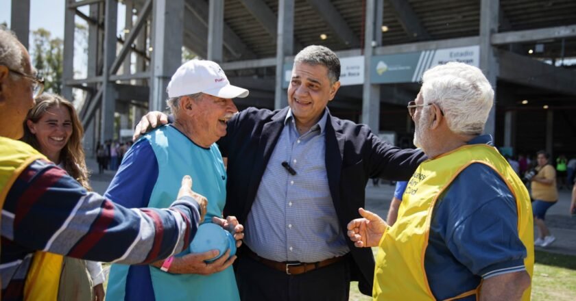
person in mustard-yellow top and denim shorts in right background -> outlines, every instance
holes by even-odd
[[[550,209],[558,200],[558,189],[556,187],[556,170],[549,163],[550,155],[544,150],[537,153],[536,161],[538,166],[536,176],[531,179],[532,211],[534,213],[534,223],[538,226],[540,235],[534,241],[534,246],[547,247],[552,244],[554,237],[546,223],[544,217],[546,211]]]

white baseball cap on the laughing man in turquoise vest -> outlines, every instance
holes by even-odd
[[[230,85],[218,64],[206,60],[190,60],[176,70],[168,83],[168,97],[206,93],[223,99],[248,96],[248,90]]]

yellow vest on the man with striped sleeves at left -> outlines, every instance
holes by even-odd
[[[24,142],[0,137],[0,208],[14,181],[36,159],[46,157]],[[35,252],[26,276],[24,300],[56,300],[61,270],[62,255]]]

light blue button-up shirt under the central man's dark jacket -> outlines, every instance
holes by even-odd
[[[328,187],[327,110],[302,135],[290,110],[286,116],[245,224],[244,242],[260,257],[313,263],[350,251]]]

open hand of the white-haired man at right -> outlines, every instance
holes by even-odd
[[[357,218],[348,223],[348,237],[354,241],[357,248],[378,246],[388,224],[376,213],[358,209],[363,218]]]

